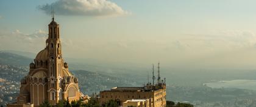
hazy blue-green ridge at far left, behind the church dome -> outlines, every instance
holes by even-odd
[[[0,51],[0,63],[3,65],[29,66],[31,58]]]

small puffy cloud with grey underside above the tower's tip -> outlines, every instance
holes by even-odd
[[[51,14],[52,7],[56,15],[118,16],[129,14],[114,2],[107,0],[58,0],[52,4],[38,6],[48,15]]]

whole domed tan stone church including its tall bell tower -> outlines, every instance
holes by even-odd
[[[48,25],[46,47],[30,63],[29,74],[21,79],[20,94],[16,103],[7,106],[39,106],[44,101],[51,105],[59,100],[79,100],[78,79],[68,70],[68,63],[62,57],[59,24],[52,17]]]

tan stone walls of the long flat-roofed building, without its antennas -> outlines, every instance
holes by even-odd
[[[118,101],[123,106],[124,102],[132,99],[152,99],[152,107],[166,106],[166,85],[146,85],[144,87],[116,87],[108,91],[101,91],[99,101],[101,104],[109,100]]]

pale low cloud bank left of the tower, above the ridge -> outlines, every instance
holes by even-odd
[[[48,34],[46,31],[37,30],[26,34],[20,30],[9,33],[0,33],[1,50],[39,51],[45,46]]]

